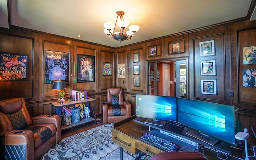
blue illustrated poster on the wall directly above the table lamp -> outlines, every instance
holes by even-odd
[[[68,53],[45,50],[45,83],[68,82]]]

